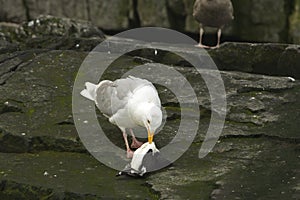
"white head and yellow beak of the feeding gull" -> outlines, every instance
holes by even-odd
[[[162,111],[153,103],[148,103],[144,109],[143,125],[148,131],[148,142],[151,144],[155,131],[162,123]]]

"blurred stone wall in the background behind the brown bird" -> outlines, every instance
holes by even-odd
[[[0,0],[0,21],[21,23],[39,15],[88,20],[106,34],[160,26],[195,39],[199,25],[193,0]],[[224,29],[229,41],[300,44],[300,0],[232,0],[235,20]],[[207,36],[215,40],[215,35]],[[210,38],[211,37],[211,38]]]

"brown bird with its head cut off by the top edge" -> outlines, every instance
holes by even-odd
[[[218,48],[222,34],[221,29],[233,20],[232,3],[230,0],[196,0],[193,16],[200,23],[200,40],[197,46],[211,48],[202,44],[203,27],[214,27],[218,29],[218,42],[212,48]]]

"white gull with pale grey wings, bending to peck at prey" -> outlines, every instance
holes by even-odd
[[[109,122],[122,131],[128,158],[133,156],[131,148],[143,144],[136,139],[132,128],[145,127],[148,143],[152,143],[154,133],[162,123],[162,110],[157,90],[151,82],[129,76],[115,81],[104,80],[97,85],[86,82],[85,87],[80,94],[94,101]],[[132,136],[131,148],[126,129]]]

